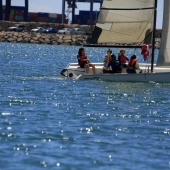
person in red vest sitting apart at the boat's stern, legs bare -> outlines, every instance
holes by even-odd
[[[80,48],[77,55],[78,64],[81,68],[85,68],[85,72],[89,73],[89,67],[92,67],[93,73],[96,74],[96,68],[90,63],[89,58],[85,54],[84,48]]]

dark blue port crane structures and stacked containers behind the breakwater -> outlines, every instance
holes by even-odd
[[[43,13],[43,12],[29,12],[29,0],[25,1],[25,6],[12,6],[12,0],[6,0],[5,6],[2,5],[0,0],[0,20],[6,21],[24,21],[24,22],[51,22],[51,23],[69,23],[68,11],[72,15],[71,24],[80,25],[94,25],[98,16],[98,11],[93,11],[93,4],[102,4],[103,0],[63,0],[62,1],[62,14],[57,13]],[[76,3],[90,3],[89,11],[79,11],[75,15]],[[56,2],[57,3],[57,2]],[[67,8],[67,9],[66,9]],[[68,11],[67,11],[68,10]]]

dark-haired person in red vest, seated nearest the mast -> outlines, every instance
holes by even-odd
[[[132,55],[128,62],[128,68],[126,71],[127,73],[136,73],[136,69],[139,69],[139,64],[136,55]]]

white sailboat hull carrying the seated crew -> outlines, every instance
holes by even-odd
[[[158,83],[170,83],[170,67],[156,67],[154,65],[154,72],[149,72],[150,66],[147,64],[140,64],[140,70],[142,73],[126,73],[124,70],[122,73],[107,73],[103,74],[103,63],[93,63],[96,67],[96,74],[92,73],[90,69],[89,74],[85,74],[85,70],[80,68],[77,63],[70,63],[61,74],[66,78],[76,80],[102,80],[113,82],[158,82]]]

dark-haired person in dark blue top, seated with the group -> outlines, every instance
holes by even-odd
[[[121,65],[116,61],[116,56],[114,54],[111,55],[111,60],[107,65],[107,70],[103,73],[121,73]]]

